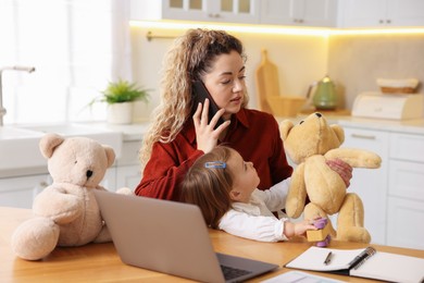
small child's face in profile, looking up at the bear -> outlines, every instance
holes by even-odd
[[[227,161],[233,175],[233,189],[229,195],[234,201],[249,202],[250,196],[259,185],[258,172],[252,162],[246,162],[236,151]]]

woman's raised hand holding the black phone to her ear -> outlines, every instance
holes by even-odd
[[[220,118],[224,114],[225,109],[220,109],[209,123],[209,99],[204,100],[204,107],[199,103],[192,120],[196,130],[197,149],[204,153],[211,151],[216,145],[221,133],[229,125],[229,121],[225,121],[219,127],[215,127]]]

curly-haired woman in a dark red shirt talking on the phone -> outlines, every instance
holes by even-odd
[[[164,62],[162,102],[140,150],[141,163],[147,163],[137,195],[180,200],[188,169],[221,144],[253,162],[259,189],[291,175],[274,116],[246,108],[245,61],[240,40],[222,30],[190,29],[174,41]],[[210,122],[210,101],[194,102],[192,85],[199,79],[221,109]],[[225,122],[214,128],[220,118]],[[348,164],[336,160],[329,165],[349,182]]]

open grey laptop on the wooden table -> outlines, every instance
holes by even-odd
[[[201,282],[240,282],[278,268],[215,253],[197,206],[103,190],[95,195],[126,264]]]

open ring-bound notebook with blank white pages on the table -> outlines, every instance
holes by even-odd
[[[328,253],[332,255],[326,264]],[[285,267],[389,282],[424,282],[423,258],[377,251],[373,247],[332,249],[313,246]]]

